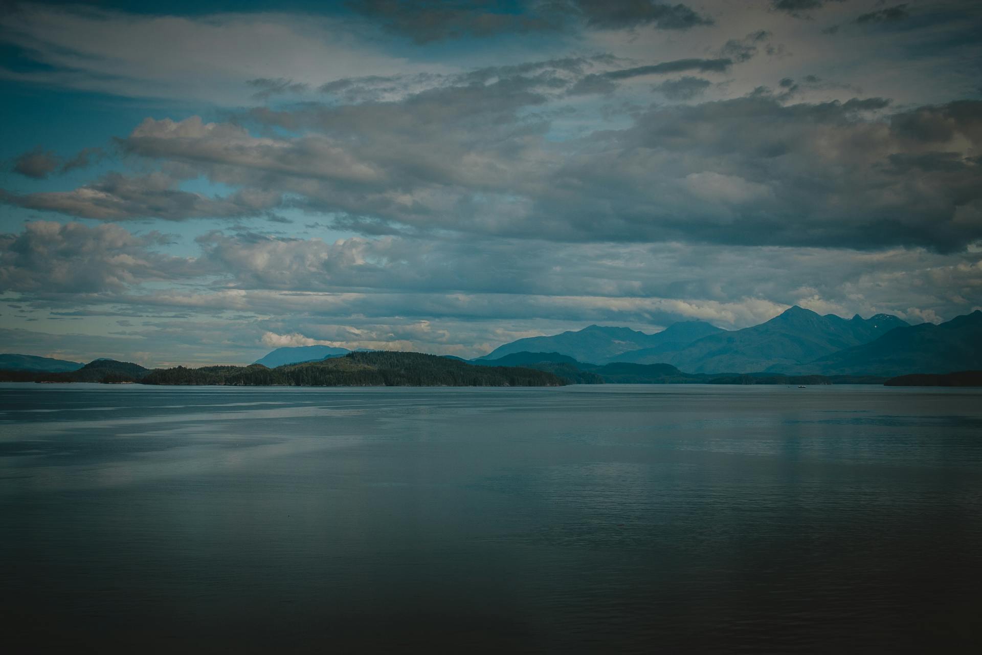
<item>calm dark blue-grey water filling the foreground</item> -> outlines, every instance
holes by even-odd
[[[5,650],[976,651],[980,401],[0,385]]]

